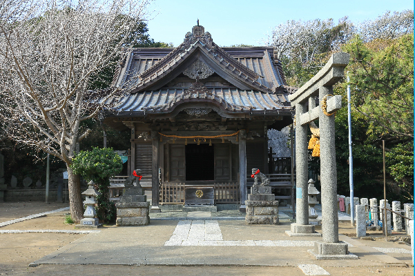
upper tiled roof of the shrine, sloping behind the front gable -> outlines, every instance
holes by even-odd
[[[286,85],[281,63],[273,57],[272,47],[220,48],[213,42],[212,46],[203,42],[197,40],[189,46],[183,43],[177,48],[130,49],[126,61],[116,72],[113,86],[128,83],[132,92],[148,87],[152,90],[162,88],[162,84],[160,87],[151,86],[180,66],[197,49],[215,61],[224,74],[243,83],[245,87],[240,89],[275,92],[278,87]]]

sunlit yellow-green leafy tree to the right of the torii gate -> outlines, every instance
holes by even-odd
[[[414,34],[363,43],[355,37],[350,54],[353,103],[384,137],[414,138]]]

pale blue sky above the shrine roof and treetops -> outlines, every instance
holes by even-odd
[[[249,44],[260,46],[271,28],[287,20],[338,19],[352,22],[375,19],[386,10],[414,9],[412,0],[280,1],[280,0],[155,0],[149,34],[155,41],[178,46],[199,18],[220,46]]]

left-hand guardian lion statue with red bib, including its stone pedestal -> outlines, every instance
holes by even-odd
[[[117,226],[148,225],[150,223],[150,203],[144,195],[139,180],[142,178],[141,170],[134,170],[124,182],[124,191],[117,207]],[[136,180],[137,186],[133,185]]]

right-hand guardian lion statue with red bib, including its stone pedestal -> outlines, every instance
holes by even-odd
[[[248,200],[245,201],[247,206],[245,221],[247,224],[279,224],[278,201],[271,193],[269,178],[258,168],[252,169],[251,177],[253,178],[253,186]],[[261,181],[260,184],[258,184],[258,180]]]

